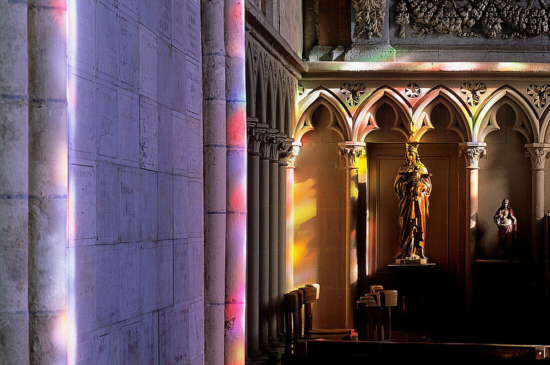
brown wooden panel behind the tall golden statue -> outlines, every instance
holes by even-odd
[[[426,227],[426,256],[443,271],[457,268],[459,241],[458,147],[455,144],[422,144],[420,159],[433,173],[430,215]],[[371,273],[388,272],[399,252],[399,202],[393,184],[399,166],[405,160],[404,144],[369,145],[368,253]]]

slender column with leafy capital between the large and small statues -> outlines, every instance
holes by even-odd
[[[485,156],[486,143],[463,142],[459,143],[460,152],[466,159],[466,262],[465,262],[465,289],[466,306],[471,310],[472,304],[472,263],[475,259],[477,244],[477,211],[479,191],[479,160]]]

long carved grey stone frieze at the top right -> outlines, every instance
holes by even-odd
[[[441,33],[460,37],[525,38],[548,33],[550,9],[544,0],[400,0],[395,5],[399,36],[410,24],[412,36]]]

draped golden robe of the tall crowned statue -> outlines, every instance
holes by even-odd
[[[428,220],[428,198],[432,192],[432,182],[428,170],[423,164],[419,165],[418,179],[420,194],[415,197],[411,194],[412,178],[410,175],[402,175],[414,170],[414,166],[403,164],[399,167],[399,173],[395,178],[395,194],[399,198],[399,242],[401,250],[400,259],[410,259],[418,250],[418,246],[424,247],[426,221]],[[422,176],[423,175],[423,176]]]

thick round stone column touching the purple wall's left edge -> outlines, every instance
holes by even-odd
[[[30,0],[27,5],[29,357],[32,364],[63,364],[67,363],[67,3]]]

